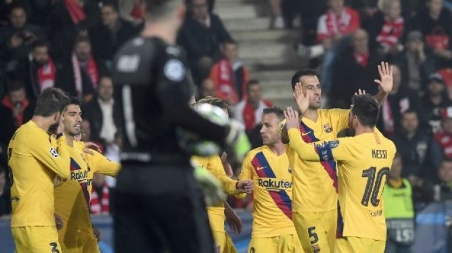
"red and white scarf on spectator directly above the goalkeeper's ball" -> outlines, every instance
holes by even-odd
[[[235,82],[233,80],[233,69],[227,59],[222,59],[218,62],[218,80],[216,86],[216,96],[222,100],[226,100],[231,104],[237,104],[238,95],[235,91]]]

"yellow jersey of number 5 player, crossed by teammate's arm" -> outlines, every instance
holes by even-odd
[[[316,122],[302,118],[300,131],[305,142],[334,140],[348,127],[350,110],[319,109]],[[337,208],[336,162],[301,160],[287,147],[293,167],[293,212],[327,212]]]

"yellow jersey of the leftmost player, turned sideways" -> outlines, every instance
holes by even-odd
[[[66,138],[55,140],[32,120],[10,140],[11,227],[55,226],[53,179],[69,178]]]

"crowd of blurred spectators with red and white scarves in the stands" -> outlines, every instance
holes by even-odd
[[[377,126],[397,146],[399,176],[413,186],[417,210],[452,199],[452,1],[270,2],[273,29],[300,27],[294,52],[321,73],[325,106],[348,108],[359,89],[377,93],[377,65],[392,64],[394,87]],[[241,62],[237,42],[215,15],[215,1],[189,3],[178,41],[198,97],[219,97],[233,106],[234,118],[259,147],[262,109],[272,106],[262,97],[262,80]],[[119,160],[120,106],[113,98],[111,63],[143,28],[143,8],[141,0],[0,0],[0,216],[11,212],[8,142],[30,120],[45,88],[79,97],[83,140]],[[239,171],[236,166],[235,176]],[[91,213],[108,214],[114,179],[96,176],[93,184]],[[251,209],[252,198],[230,198],[230,205]]]

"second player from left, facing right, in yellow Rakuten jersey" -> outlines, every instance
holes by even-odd
[[[116,176],[120,165],[97,151],[85,153],[84,142],[74,140],[82,132],[82,110],[77,97],[71,97],[62,123],[71,160],[71,164],[67,165],[71,178],[55,187],[55,213],[63,223],[58,232],[60,245],[63,252],[99,252],[89,216],[91,182],[95,173]]]

